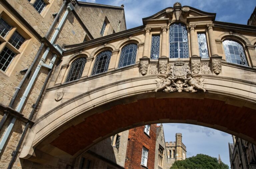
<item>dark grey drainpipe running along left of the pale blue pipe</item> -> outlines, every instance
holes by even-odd
[[[56,17],[55,17],[55,19],[53,20],[53,22],[52,22],[50,28],[48,29],[47,33],[45,34],[45,38],[46,38],[46,39],[47,39],[48,36],[50,35],[50,33],[51,33],[52,29],[53,29],[53,26],[54,26],[54,25],[56,24],[56,22],[58,21],[58,18],[59,18],[59,16],[60,16],[60,14],[62,13],[62,11],[63,11],[63,9],[64,9],[66,3],[67,3],[67,1],[64,0],[63,3],[62,3],[62,6],[61,6],[61,8],[60,8],[60,10],[59,10],[59,12],[58,12],[58,14],[56,15]],[[15,92],[14,92],[14,94],[13,94],[13,96],[12,96],[12,99],[11,99],[11,101],[10,101],[9,107],[11,107],[11,108],[13,107],[13,104],[14,104],[14,101],[16,100],[16,97],[18,96],[18,93],[19,93],[19,91],[20,91],[20,89],[21,89],[23,83],[25,82],[25,80],[26,80],[26,78],[28,77],[28,75],[30,74],[30,72],[31,72],[31,70],[32,70],[32,68],[33,68],[33,66],[35,65],[35,63],[36,63],[36,61],[37,61],[37,59],[38,59],[38,57],[39,57],[39,55],[40,55],[40,53],[41,53],[43,47],[44,47],[44,42],[41,43],[41,45],[40,45],[40,47],[39,47],[39,49],[38,49],[38,51],[37,51],[37,53],[36,53],[36,56],[35,56],[33,62],[31,63],[31,65],[29,66],[27,72],[25,73],[25,75],[23,76],[22,80],[20,81],[19,86],[16,87],[16,90],[15,90]],[[0,129],[3,127],[3,124],[4,124],[4,122],[6,121],[6,118],[7,118],[7,115],[4,115],[4,117],[2,118],[2,120],[1,120],[1,122],[0,122]]]

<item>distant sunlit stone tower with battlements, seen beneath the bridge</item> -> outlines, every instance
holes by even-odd
[[[175,161],[185,160],[187,157],[186,146],[182,143],[182,134],[176,133],[175,142],[165,142],[168,155],[168,165],[170,168]]]

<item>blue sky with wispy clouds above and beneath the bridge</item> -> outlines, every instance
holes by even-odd
[[[82,0],[85,2],[121,6],[124,4],[127,29],[142,25],[142,18],[151,16],[162,9],[172,7],[177,0]],[[247,24],[256,0],[179,0],[182,6],[216,13],[216,21]],[[163,124],[166,141],[175,141],[175,133],[182,133],[183,143],[187,147],[187,157],[203,153],[213,157],[220,154],[222,161],[230,166],[228,142],[230,134],[195,125]]]

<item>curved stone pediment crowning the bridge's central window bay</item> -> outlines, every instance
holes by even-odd
[[[167,19],[169,22],[173,20],[185,20],[184,22],[187,22],[187,18],[189,18],[189,21],[193,19],[198,20],[200,18],[208,18],[209,20],[214,21],[215,16],[216,13],[204,12],[190,6],[181,6],[179,2],[176,2],[173,7],[165,8],[152,16],[143,18],[142,21],[143,25],[147,25],[148,22],[162,21]]]

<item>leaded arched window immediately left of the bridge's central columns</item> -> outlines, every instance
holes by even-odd
[[[137,44],[127,44],[122,48],[118,67],[124,67],[131,64],[135,64],[137,53]]]

